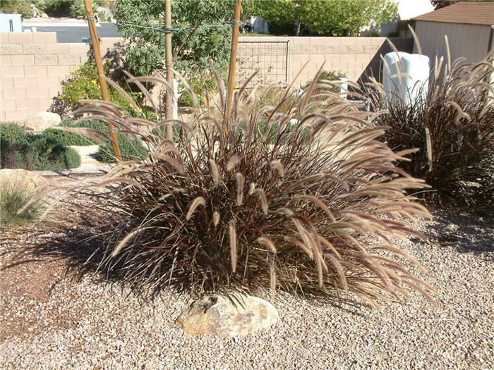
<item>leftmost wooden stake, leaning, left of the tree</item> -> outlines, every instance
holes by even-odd
[[[103,62],[101,60],[100,43],[98,42],[98,35],[96,32],[95,18],[92,13],[91,0],[84,0],[84,6],[86,8],[86,16],[88,17],[89,33],[91,35],[92,52],[95,56],[96,68],[98,71],[98,78],[100,80],[101,94],[104,101],[110,101],[108,97],[107,81],[104,80]],[[108,123],[108,129],[112,136],[113,153],[117,161],[121,161],[121,154],[119,148],[119,142],[116,139],[116,132],[114,132],[115,126],[112,123]]]

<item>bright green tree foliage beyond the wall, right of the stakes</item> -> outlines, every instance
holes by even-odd
[[[319,35],[356,36],[362,27],[375,27],[397,13],[394,0],[251,0],[245,13],[267,23],[304,25]]]

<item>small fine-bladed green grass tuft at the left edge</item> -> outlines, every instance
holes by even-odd
[[[0,230],[18,226],[29,226],[39,218],[44,210],[44,201],[37,200],[18,211],[35,195],[32,184],[27,180],[0,180]]]

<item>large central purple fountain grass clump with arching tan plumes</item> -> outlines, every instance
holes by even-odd
[[[432,302],[431,288],[402,266],[404,259],[418,261],[394,242],[423,238],[416,221],[430,216],[406,195],[426,187],[423,180],[397,168],[413,150],[394,153],[378,141],[384,129],[371,123],[380,113],[366,118],[332,92],[327,99],[340,103],[330,109],[323,99],[313,101],[323,87],[317,77],[287,113],[278,110],[287,94],[254,109],[253,97],[262,100],[269,87],[247,94],[244,85],[226,123],[222,81],[219,109],[207,105],[190,122],[152,123],[104,101],[84,106],[93,119],[141,137],[149,153],[72,189],[110,186],[100,269],[138,290],[173,285],[272,297],[279,289],[320,297],[349,291],[376,307],[411,288]],[[166,85],[129,79],[144,81]],[[160,134],[171,124],[179,126],[177,135]]]

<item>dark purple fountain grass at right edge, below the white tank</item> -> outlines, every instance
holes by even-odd
[[[411,104],[370,92],[375,109],[389,111],[376,121],[387,127],[387,144],[419,149],[401,167],[433,187],[416,195],[433,206],[493,212],[494,104],[484,82],[492,63],[491,55],[433,73],[428,94]]]

